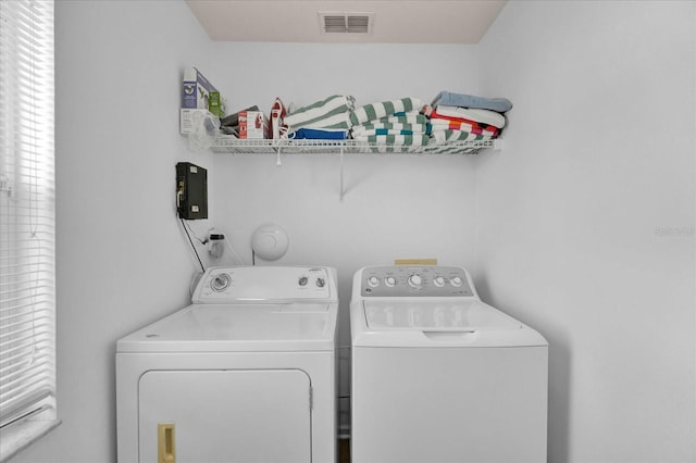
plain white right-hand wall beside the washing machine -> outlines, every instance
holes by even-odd
[[[550,343],[550,462],[696,461],[694,2],[509,2],[482,292]]]

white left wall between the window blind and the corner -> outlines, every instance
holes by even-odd
[[[183,306],[197,263],[174,211],[181,72],[209,63],[183,2],[55,2],[58,402],[27,463],[115,461],[114,348]]]

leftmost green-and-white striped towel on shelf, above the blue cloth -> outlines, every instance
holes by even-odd
[[[311,128],[350,128],[350,111],[356,100],[351,96],[332,95],[308,107],[298,108],[283,121],[295,132],[302,127]]]

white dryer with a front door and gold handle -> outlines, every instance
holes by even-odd
[[[216,267],[116,343],[120,463],[334,463],[336,273]]]

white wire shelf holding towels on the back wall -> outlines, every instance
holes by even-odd
[[[449,141],[440,145],[407,146],[369,143],[358,140],[269,140],[219,136],[211,150],[234,154],[477,154],[484,149],[500,149],[500,140]]]

